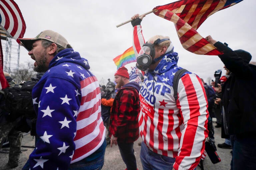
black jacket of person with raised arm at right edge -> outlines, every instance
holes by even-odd
[[[256,66],[245,62],[227,45],[214,44],[230,77],[222,87],[222,102],[229,134],[256,136]]]

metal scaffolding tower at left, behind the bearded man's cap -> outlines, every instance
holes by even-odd
[[[20,45],[2,28],[0,28],[0,34],[3,48],[3,70],[10,73],[12,78],[19,82]]]

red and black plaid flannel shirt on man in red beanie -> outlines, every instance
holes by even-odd
[[[114,100],[110,115],[110,136],[118,142],[131,143],[139,138],[139,94],[134,87],[121,88]]]

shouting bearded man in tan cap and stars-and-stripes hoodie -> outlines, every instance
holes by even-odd
[[[101,169],[105,127],[99,83],[88,61],[51,30],[20,41],[35,60],[34,70],[45,72],[32,91],[39,140],[30,170]]]

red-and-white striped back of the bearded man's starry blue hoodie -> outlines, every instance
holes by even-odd
[[[71,163],[94,153],[105,139],[105,127],[101,118],[101,93],[97,78],[88,77],[80,83],[82,99],[76,119],[76,150]]]

